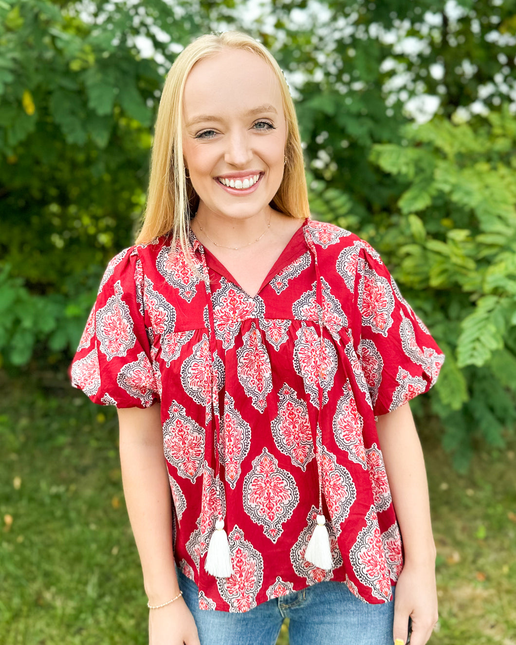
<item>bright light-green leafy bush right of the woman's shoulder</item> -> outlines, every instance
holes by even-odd
[[[475,437],[503,446],[516,420],[516,118],[504,104],[474,126],[435,117],[401,134],[372,147],[399,197],[362,235],[446,353],[430,398],[463,470]],[[313,204],[359,225],[335,188],[320,184]]]

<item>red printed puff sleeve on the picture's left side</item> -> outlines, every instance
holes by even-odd
[[[135,246],[104,272],[75,357],[72,386],[94,403],[148,408],[160,400],[161,380],[144,320],[144,275]]]

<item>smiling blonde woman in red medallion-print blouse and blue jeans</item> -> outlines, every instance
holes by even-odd
[[[164,85],[143,228],[71,366],[117,406],[150,643],[272,644],[284,617],[292,644],[399,645],[411,622],[426,643],[408,401],[443,359],[377,252],[310,219],[272,55],[237,32],[194,41]]]

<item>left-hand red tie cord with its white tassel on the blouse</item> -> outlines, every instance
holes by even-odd
[[[204,272],[204,286],[206,287],[206,295],[208,299],[208,318],[210,319],[210,327],[208,330],[210,342],[210,391],[211,391],[211,406],[212,406],[212,427],[215,424],[215,469],[214,479],[217,486],[217,514],[218,518],[215,522],[215,531],[212,533],[210,543],[208,544],[208,553],[206,553],[206,560],[204,561],[204,570],[216,577],[228,578],[233,573],[233,566],[231,564],[231,553],[228,542],[228,534],[224,530],[224,514],[221,499],[221,461],[219,450],[221,446],[221,420],[219,412],[219,387],[217,374],[215,373],[214,357],[217,353],[217,342],[215,339],[215,323],[213,319],[213,303],[212,303],[212,290],[210,288],[210,273],[206,264],[206,257],[204,256],[204,249],[201,246],[201,258],[203,262]]]

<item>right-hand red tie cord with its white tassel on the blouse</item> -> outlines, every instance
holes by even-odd
[[[319,409],[317,410],[317,421],[315,423],[315,437],[313,437],[313,450],[315,452],[315,461],[317,462],[317,479],[319,481],[319,512],[317,513],[317,525],[313,530],[310,542],[306,547],[304,559],[315,566],[331,570],[333,568],[332,550],[330,548],[330,536],[326,529],[326,518],[323,513],[323,470],[321,465],[320,447],[323,445],[321,437],[321,428],[319,426],[319,416],[323,409],[323,357],[324,357],[324,337],[323,337],[323,284],[321,282],[321,272],[319,272],[319,263],[317,262],[317,252],[312,239],[310,239],[310,232],[306,230],[304,225],[304,237],[306,244],[313,255],[313,262],[315,264],[315,301],[317,303],[317,314],[319,317],[319,357],[317,365],[317,390],[319,393]]]

